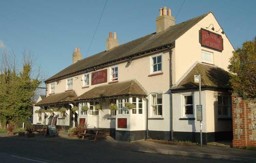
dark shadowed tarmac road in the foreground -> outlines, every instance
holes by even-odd
[[[227,163],[226,160],[191,158],[126,150],[99,140],[96,143],[81,140],[47,141],[0,137],[1,163],[70,163],[70,162],[147,162],[147,163]],[[122,143],[122,142],[120,142]],[[232,161],[233,162],[233,161]],[[235,162],[233,162],[235,163]]]

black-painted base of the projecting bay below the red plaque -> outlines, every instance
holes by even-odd
[[[145,139],[146,131],[123,131],[123,130],[116,130],[116,140],[123,141],[123,142],[131,142],[135,140]]]

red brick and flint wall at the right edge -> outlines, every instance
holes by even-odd
[[[256,147],[256,100],[232,94],[233,147]]]

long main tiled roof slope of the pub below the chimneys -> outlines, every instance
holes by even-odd
[[[183,35],[191,27],[196,25],[209,13],[171,26],[163,32],[148,34],[144,37],[135,39],[131,42],[114,47],[109,51],[102,51],[98,54],[79,60],[76,63],[68,66],[67,68],[61,70],[54,76],[48,78],[45,82],[54,80],[56,78],[61,78],[67,75],[72,75],[73,73],[87,70],[88,68],[93,68],[95,66],[127,58],[134,54],[170,45],[172,42],[174,42],[177,38]]]

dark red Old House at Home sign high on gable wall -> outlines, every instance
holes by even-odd
[[[222,36],[201,29],[201,45],[222,51]]]

